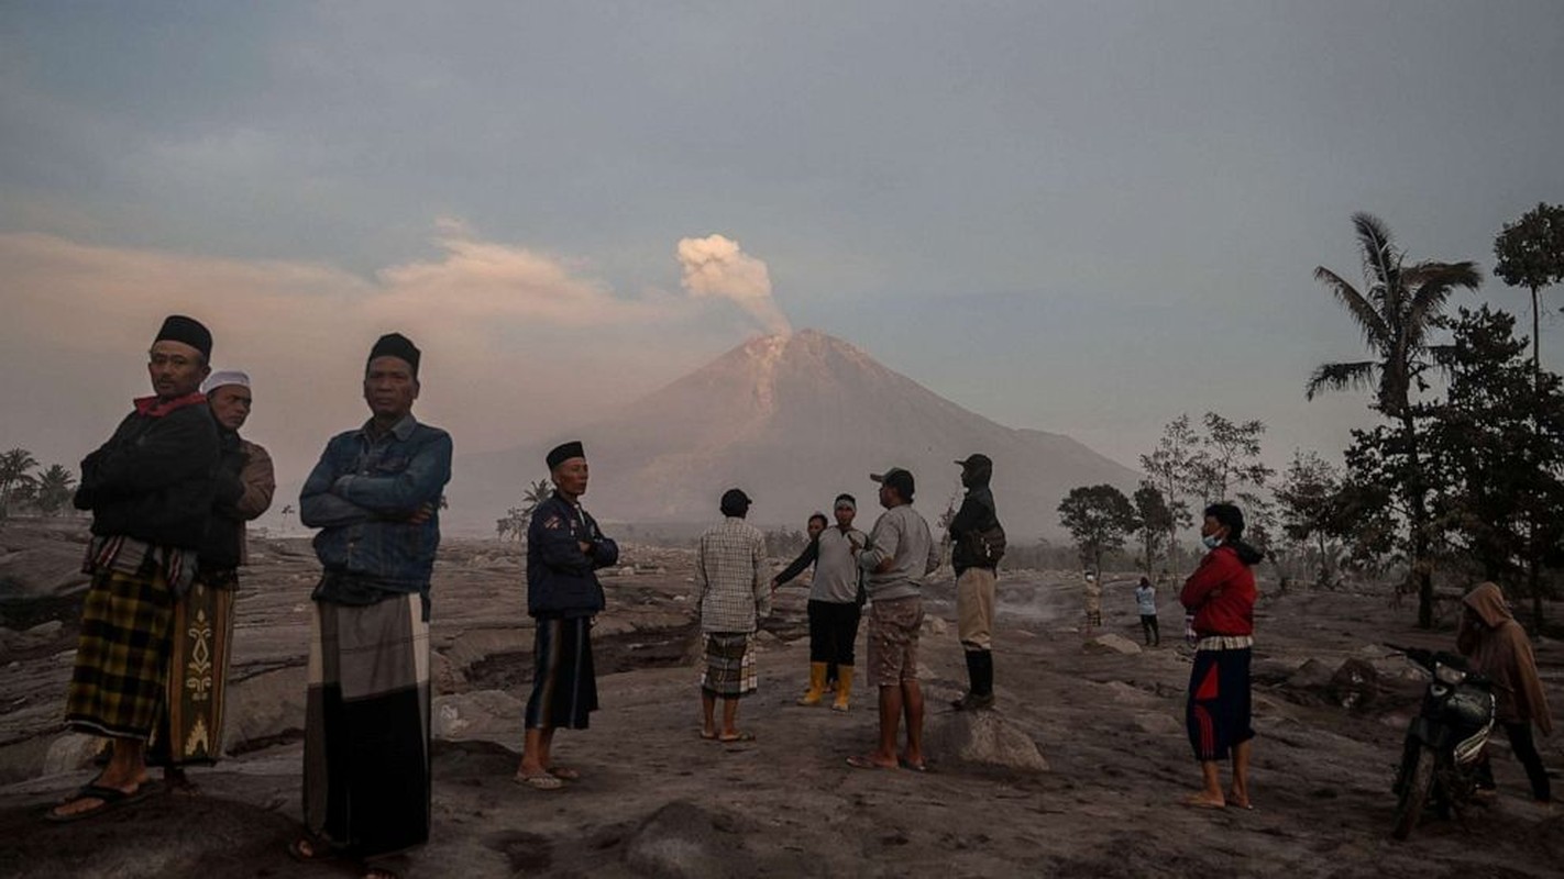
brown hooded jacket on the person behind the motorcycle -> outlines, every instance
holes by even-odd
[[[1462,618],[1456,649],[1472,659],[1472,667],[1494,679],[1495,717],[1501,723],[1536,723],[1544,735],[1553,732],[1548,699],[1542,695],[1537,660],[1526,631],[1509,614],[1505,593],[1492,582],[1480,584],[1461,600],[1481,623]]]

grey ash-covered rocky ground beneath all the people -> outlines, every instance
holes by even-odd
[[[0,526],[0,876],[332,876],[299,865],[308,593],[302,539],[253,542],[235,639],[227,743],[199,796],[161,795],[77,824],[39,813],[91,778],[91,742],[59,728],[75,646],[81,523]],[[923,678],[929,771],[860,771],[874,735],[848,714],[798,707],[804,590],[762,634],[762,690],[741,726],[698,737],[691,554],[629,546],[594,631],[604,709],[563,731],[561,792],[511,782],[530,676],[521,553],[449,542],[435,573],[435,831],[408,876],[1558,876],[1564,813],[1530,802],[1498,742],[1503,796],[1464,826],[1428,820],[1389,838],[1389,781],[1422,681],[1381,642],[1444,646],[1384,595],[1265,592],[1257,612],[1253,810],[1179,806],[1198,770],[1182,731],[1189,656],[1164,595],[1162,648],[1142,651],[1126,581],[1104,631],[1078,632],[1073,571],[1001,578],[998,710],[963,715],[949,571],[929,590]],[[1262,585],[1262,590],[1265,587]],[[1551,607],[1556,617],[1564,607]],[[862,656],[862,645],[860,645]],[[1564,645],[1537,648],[1564,714]],[[1564,721],[1564,717],[1559,718]],[[1564,767],[1559,737],[1541,742]],[[1558,782],[1555,782],[1558,785]],[[343,873],[346,874],[346,873]]]

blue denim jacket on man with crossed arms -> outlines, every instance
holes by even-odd
[[[325,443],[299,493],[299,520],[321,529],[314,554],[328,579],[346,575],[386,592],[429,593],[450,448],[450,434],[413,415],[378,439],[366,423]],[[407,521],[424,504],[435,507],[429,520]]]

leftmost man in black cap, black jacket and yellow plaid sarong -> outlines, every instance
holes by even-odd
[[[149,793],[145,745],[163,707],[175,600],[189,589],[216,495],[217,425],[200,383],[211,333],[172,315],[149,353],[152,397],[81,462],[77,509],[92,511],[81,639],[66,701],[78,732],[113,740],[91,784],[48,812],[74,821]]]

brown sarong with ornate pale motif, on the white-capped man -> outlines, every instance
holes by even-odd
[[[167,696],[147,763],[211,765],[222,756],[236,590],[231,575],[222,579],[202,575],[174,603]]]

